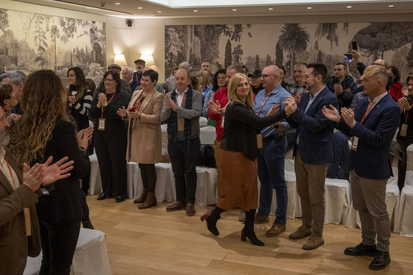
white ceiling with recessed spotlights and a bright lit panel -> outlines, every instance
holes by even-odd
[[[197,18],[318,14],[413,13],[413,0],[18,0],[121,18]],[[104,2],[104,6],[102,6]],[[237,5],[231,5],[237,2]],[[247,5],[247,2],[254,4]],[[271,2],[271,4],[266,4]],[[282,2],[282,4],[280,4]],[[305,4],[302,4],[302,3]],[[314,3],[317,2],[317,3]],[[321,3],[323,2],[323,3]],[[116,5],[115,3],[119,3]],[[178,6],[178,3],[180,3]],[[289,3],[289,4],[286,4]],[[300,4],[301,3],[301,4]],[[205,6],[207,5],[208,6]],[[217,7],[219,4],[219,7]],[[84,6],[83,6],[84,5]],[[169,6],[172,5],[172,6]],[[393,5],[394,7],[389,7]],[[183,7],[186,6],[186,7]],[[188,7],[190,6],[190,7]],[[351,6],[350,8],[347,6]],[[311,7],[311,9],[308,9]],[[236,10],[233,10],[236,9]],[[194,10],[197,10],[195,12]]]

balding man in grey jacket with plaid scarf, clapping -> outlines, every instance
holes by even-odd
[[[165,95],[161,121],[168,122],[168,153],[175,176],[176,202],[166,207],[167,212],[186,209],[187,216],[195,215],[197,189],[196,163],[201,148],[199,115],[202,96],[192,90],[188,71],[175,73],[176,89]]]

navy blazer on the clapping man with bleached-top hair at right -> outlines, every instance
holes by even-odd
[[[360,99],[354,120],[360,122],[368,107],[368,97]],[[390,164],[390,145],[399,127],[400,108],[387,93],[363,120],[351,128],[344,119],[336,128],[347,136],[357,136],[357,150],[351,150],[350,171],[368,179],[386,180],[393,175]]]

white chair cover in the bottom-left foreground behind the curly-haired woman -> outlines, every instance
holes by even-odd
[[[42,256],[40,252],[40,255],[36,258],[28,257],[23,275],[39,274]],[[70,274],[111,274],[107,256],[106,235],[104,233],[98,230],[80,229]]]

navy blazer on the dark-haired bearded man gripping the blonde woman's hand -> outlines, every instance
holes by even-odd
[[[320,91],[305,112],[309,103],[310,93],[301,96],[297,110],[292,113],[287,121],[292,127],[298,127],[298,150],[302,162],[306,164],[328,164],[333,162],[333,122],[323,113],[324,106],[338,108],[335,94],[330,92],[327,86]],[[296,136],[297,138],[297,136]],[[294,144],[294,155],[297,144]]]

